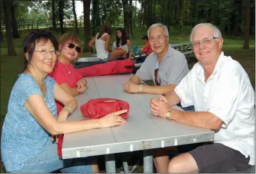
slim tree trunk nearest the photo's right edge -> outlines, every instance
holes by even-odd
[[[245,32],[244,32],[244,46],[243,49],[249,49],[249,37],[250,37],[250,0],[246,0],[246,16],[245,16]]]

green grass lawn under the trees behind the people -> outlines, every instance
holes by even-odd
[[[188,30],[189,29],[189,30]],[[178,42],[188,42],[188,35],[190,34],[191,28],[185,28],[185,39],[180,39],[179,37],[176,37],[178,33],[176,30],[173,30],[171,28],[170,35],[172,35],[169,39],[170,43],[178,43]],[[143,46],[143,42],[140,39],[143,35],[147,35],[147,31],[142,28],[136,29],[136,31],[133,32],[133,44],[136,46]],[[80,39],[83,39],[82,31],[80,31]],[[17,75],[21,73],[23,69],[24,64],[24,56],[21,50],[21,43],[24,37],[26,37],[28,33],[23,33],[21,39],[16,39],[14,41],[17,56],[6,56],[7,54],[7,48],[6,48],[6,42],[5,40],[2,42],[2,48],[1,48],[1,112],[0,112],[0,118],[1,118],[1,127],[3,126],[3,121],[5,119],[5,114],[7,112],[7,105],[8,100],[10,96],[10,92],[12,91],[12,87],[15,83],[15,80],[17,80]],[[55,36],[57,38],[60,37],[60,34],[55,32]],[[114,42],[115,39],[115,30],[113,32],[113,37],[111,40],[111,43]],[[242,40],[241,38],[235,38],[235,39],[224,39],[224,46],[223,51],[225,55],[231,56],[233,59],[237,60],[242,67],[246,70],[250,77],[251,84],[253,85],[253,89],[255,90],[255,39],[252,38],[250,40],[250,49],[242,49]],[[90,53],[82,53],[81,57],[88,57]],[[190,61],[188,63],[189,68],[196,63],[196,60]],[[141,160],[143,161],[143,160]],[[140,165],[134,173],[143,173],[143,167],[142,162],[140,162]],[[3,166],[3,163],[1,162],[1,173],[5,173],[5,168]]]

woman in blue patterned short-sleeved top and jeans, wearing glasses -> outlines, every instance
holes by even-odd
[[[58,43],[50,31],[33,31],[23,42],[25,65],[14,84],[1,136],[1,158],[9,173],[91,173],[86,158],[59,159],[52,135],[125,123],[114,112],[101,119],[66,121],[77,100],[48,73],[53,71]],[[55,100],[65,106],[57,117]]]

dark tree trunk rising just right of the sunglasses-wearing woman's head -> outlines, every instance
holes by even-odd
[[[83,0],[84,4],[84,50],[83,52],[91,52],[89,42],[91,40],[91,24],[90,24],[90,5],[91,0]]]

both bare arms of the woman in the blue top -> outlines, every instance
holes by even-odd
[[[73,96],[69,95],[65,92],[58,84],[55,84],[53,89],[54,98],[59,100],[61,103],[66,104],[66,106],[73,109],[73,104],[75,104],[75,108],[77,108],[77,101],[73,98]],[[72,102],[70,102],[72,101]],[[59,135],[66,134],[70,132],[78,132],[81,130],[88,130],[92,128],[102,128],[109,127],[115,125],[122,125],[125,123],[125,120],[118,116],[127,112],[127,110],[120,110],[118,112],[114,112],[107,116],[104,116],[100,119],[90,119],[90,120],[82,120],[82,121],[59,121],[55,119],[51,111],[48,109],[44,99],[39,94],[33,94],[28,98],[24,107],[28,109],[28,111],[32,114],[32,116],[37,120],[37,122],[51,135]],[[62,116],[66,114],[68,116],[68,110],[62,110]],[[118,119],[117,119],[118,118]]]

